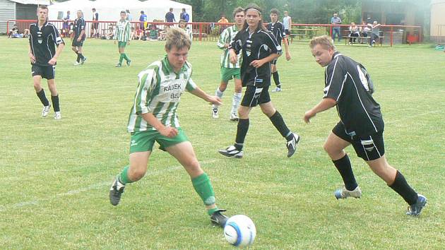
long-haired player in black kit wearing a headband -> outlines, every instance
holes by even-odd
[[[271,61],[282,53],[280,44],[263,26],[261,9],[255,4],[249,5],[245,11],[246,21],[230,44],[230,61],[237,62],[237,54],[242,51],[241,81],[247,87],[238,109],[239,121],[235,144],[219,150],[227,157],[243,156],[244,138],[249,130],[249,113],[259,105],[261,111],[271,119],[273,126],[286,138],[287,157],[296,150],[299,136],[292,133],[286,126],[281,114],[273,107],[268,92],[271,85]]]

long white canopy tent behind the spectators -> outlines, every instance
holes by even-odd
[[[139,20],[141,11],[146,13],[148,21],[153,21],[155,19],[165,20],[165,13],[167,13],[170,8],[173,8],[174,17],[179,21],[179,14],[181,13],[182,8],[185,8],[186,12],[189,13],[189,21],[191,22],[192,11],[190,5],[180,4],[170,0],[71,0],[53,4],[48,6],[48,8],[49,20],[61,19],[63,16],[66,16],[66,11],[71,12],[70,19],[74,20],[78,10],[83,11],[85,20],[93,20],[92,8],[96,9],[99,13],[99,20],[103,21],[119,20],[119,13],[124,10],[130,11],[131,16],[133,16],[133,21]]]

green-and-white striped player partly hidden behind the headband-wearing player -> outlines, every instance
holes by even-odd
[[[241,73],[240,73],[240,62],[241,53],[238,54],[238,61],[236,64],[230,62],[229,54],[229,44],[232,42],[235,35],[237,35],[238,30],[242,29],[244,24],[244,8],[237,7],[233,11],[233,17],[235,18],[235,25],[226,28],[220,35],[218,40],[218,47],[224,49],[223,54],[221,54],[221,83],[218,88],[216,88],[215,95],[222,98],[225,89],[227,88],[227,83],[229,80],[234,78],[235,81],[235,93],[232,97],[232,111],[230,111],[230,121],[238,121],[238,107],[241,102],[242,97],[242,83],[241,83]],[[219,118],[218,105],[213,105],[212,107],[212,117]]]

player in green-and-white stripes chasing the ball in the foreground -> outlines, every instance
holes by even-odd
[[[179,126],[177,107],[184,91],[220,105],[220,99],[210,96],[191,79],[191,64],[187,55],[190,39],[179,28],[170,28],[165,43],[165,56],[139,73],[139,84],[131,108],[127,129],[131,132],[130,165],[118,174],[109,191],[109,200],[117,206],[125,184],[141,179],[147,171],[153,144],[175,157],[184,166],[191,182],[207,208],[210,220],[224,227],[227,216],[215,204],[215,193],[208,175],[199,165],[194,149]],[[167,182],[168,179],[165,178]],[[178,204],[179,205],[179,204]]]

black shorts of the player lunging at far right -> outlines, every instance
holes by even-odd
[[[369,136],[357,136],[354,132],[348,133],[345,126],[338,122],[332,133],[351,143],[357,156],[363,160],[376,160],[385,154],[383,131]]]

